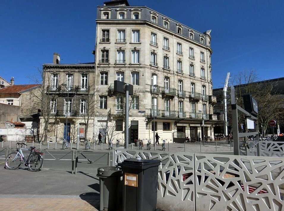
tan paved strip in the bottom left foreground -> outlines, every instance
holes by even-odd
[[[97,211],[99,207],[99,199],[81,199],[78,196],[0,195],[1,211]]]

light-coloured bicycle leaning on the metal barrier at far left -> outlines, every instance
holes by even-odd
[[[31,146],[30,149],[22,148],[23,145],[26,145],[25,143],[17,142],[16,145],[21,145],[20,149],[17,149],[15,152],[10,153],[6,157],[5,168],[15,170],[20,167],[24,160],[25,166],[29,167],[30,171],[39,171],[43,163],[42,153],[36,152],[34,146]],[[22,150],[30,151],[30,154],[27,159],[25,158]]]

